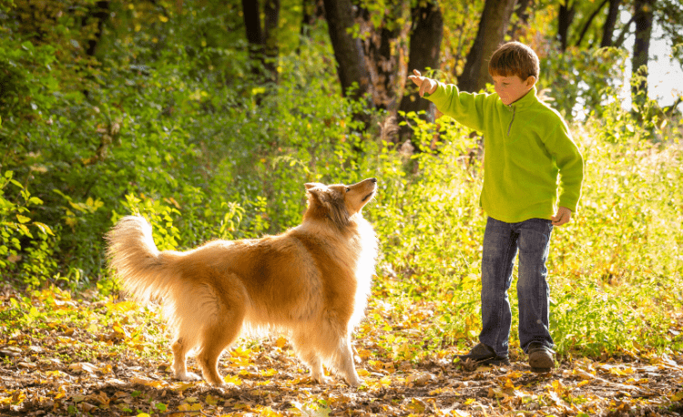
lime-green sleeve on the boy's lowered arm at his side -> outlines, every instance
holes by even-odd
[[[556,166],[559,169],[560,195],[558,206],[576,212],[584,178],[584,158],[561,117],[560,122],[554,132],[547,137],[545,146],[555,158]]]

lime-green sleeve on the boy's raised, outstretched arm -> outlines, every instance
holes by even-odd
[[[424,98],[433,102],[444,115],[481,132],[484,130],[484,107],[488,96],[461,92],[454,84],[438,82],[436,91],[432,95],[424,95]]]

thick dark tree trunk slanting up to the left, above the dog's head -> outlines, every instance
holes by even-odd
[[[370,75],[365,68],[362,42],[350,33],[354,24],[352,1],[324,0],[324,5],[342,94],[344,97],[361,98],[369,91]],[[351,89],[354,85],[355,88]]]

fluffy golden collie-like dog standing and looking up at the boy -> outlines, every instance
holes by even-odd
[[[138,300],[161,300],[173,336],[174,376],[197,355],[202,375],[223,385],[219,356],[241,331],[287,335],[313,380],[329,382],[323,364],[352,387],[361,384],[351,336],[362,320],[378,241],[361,210],[377,179],[353,185],[305,184],[301,224],[277,236],[213,240],[185,252],[159,251],[152,228],[127,216],[107,233],[107,258],[122,288]]]

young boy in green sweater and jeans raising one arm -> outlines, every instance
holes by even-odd
[[[550,235],[569,221],[581,194],[583,158],[563,118],[536,97],[538,56],[510,42],[491,56],[495,94],[470,94],[421,76],[409,76],[421,97],[444,114],[484,134],[484,187],[488,215],[482,259],[482,331],[465,355],[480,364],[509,364],[512,313],[507,290],[519,252],[519,342],[532,371],[555,367],[548,331],[546,279]],[[559,181],[558,181],[559,178]]]

